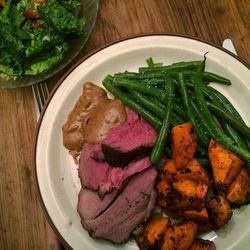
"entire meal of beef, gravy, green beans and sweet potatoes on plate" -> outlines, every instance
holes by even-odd
[[[222,228],[232,208],[250,201],[250,128],[209,86],[231,82],[205,62],[149,58],[138,72],[105,77],[114,99],[84,84],[63,142],[80,155],[77,211],[91,237],[124,243],[133,234],[140,249],[213,250],[200,233]]]

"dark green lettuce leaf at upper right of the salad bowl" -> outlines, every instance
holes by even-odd
[[[57,0],[49,0],[47,4],[38,6],[37,11],[48,25],[53,26],[59,32],[77,35],[83,33],[85,18],[78,19]]]

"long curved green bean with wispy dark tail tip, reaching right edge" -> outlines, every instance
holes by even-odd
[[[205,60],[203,61],[202,65],[197,71],[194,90],[195,90],[195,96],[196,96],[198,107],[200,108],[205,121],[210,127],[211,134],[213,138],[219,143],[221,143],[223,146],[225,146],[232,152],[238,154],[244,160],[250,161],[250,152],[235,145],[235,143],[231,140],[231,138],[229,138],[225,134],[222,134],[221,130],[219,129],[219,127],[217,126],[217,124],[212,118],[212,115],[208,109],[208,106],[206,104],[205,98],[202,93],[202,72],[204,71],[204,67],[205,67]]]

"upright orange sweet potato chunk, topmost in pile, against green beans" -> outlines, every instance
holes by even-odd
[[[172,158],[177,169],[185,167],[194,158],[197,140],[191,122],[174,126],[171,131]]]

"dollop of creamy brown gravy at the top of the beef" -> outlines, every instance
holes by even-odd
[[[80,152],[84,142],[101,142],[112,128],[126,121],[120,100],[109,99],[104,89],[93,83],[83,84],[83,93],[63,125],[63,145]]]

